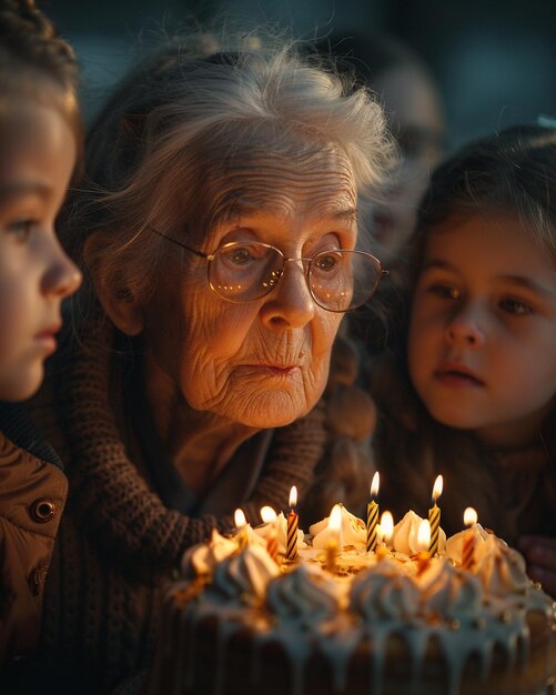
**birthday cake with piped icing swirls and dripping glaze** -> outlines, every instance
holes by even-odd
[[[556,678],[556,604],[523,557],[479,524],[419,551],[410,512],[367,552],[342,508],[299,532],[286,520],[184,555],[145,695],[540,695]],[[270,538],[279,555],[269,553]],[[306,541],[306,543],[305,543]]]

